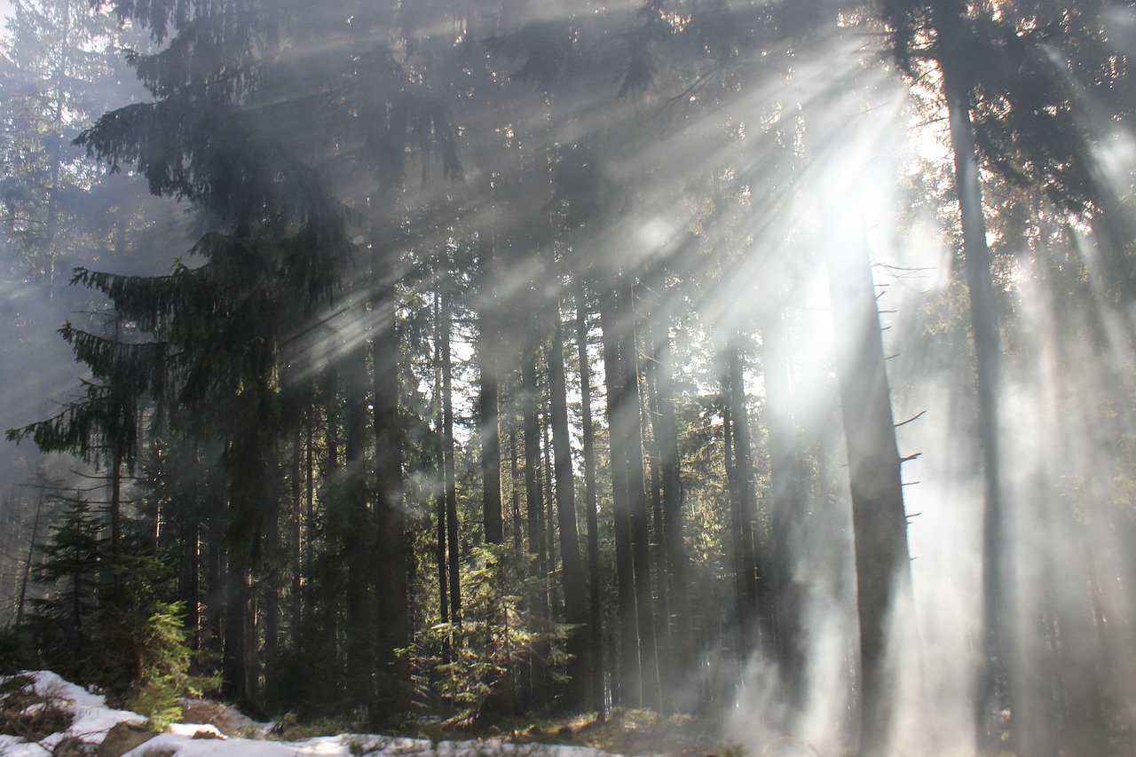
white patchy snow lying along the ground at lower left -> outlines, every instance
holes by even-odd
[[[66,732],[52,733],[39,741],[28,742],[19,737],[0,734],[0,756],[43,757],[51,755],[66,738],[99,744],[107,732],[122,722],[142,724],[145,718],[136,713],[107,707],[106,699],[82,687],[69,683],[49,671],[23,673],[32,679],[35,693],[53,698],[58,706],[70,712],[74,721]],[[0,683],[9,680],[0,676]],[[43,705],[32,705],[43,707]],[[27,712],[27,710],[25,710]],[[202,738],[200,732],[208,732]],[[194,735],[198,738],[194,738]],[[178,723],[168,733],[161,733],[126,752],[124,757],[147,755],[176,755],[177,757],[610,757],[590,747],[570,747],[541,743],[499,743],[488,741],[441,741],[406,739],[375,734],[352,733],[320,737],[303,741],[260,741],[232,737],[217,738],[215,725]]]

